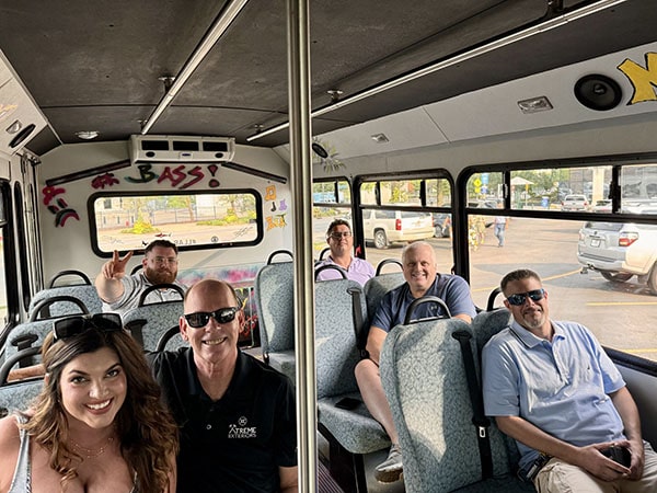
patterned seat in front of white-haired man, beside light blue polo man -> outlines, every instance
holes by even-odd
[[[494,424],[488,427],[493,479],[482,480],[456,332],[473,336],[460,319],[436,319],[397,325],[383,344],[381,381],[404,450],[405,489],[410,493],[533,491],[511,474],[506,443]],[[470,346],[472,351],[472,340]]]

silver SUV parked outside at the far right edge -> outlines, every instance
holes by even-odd
[[[636,275],[657,295],[657,225],[588,221],[579,230],[577,260],[607,280]]]

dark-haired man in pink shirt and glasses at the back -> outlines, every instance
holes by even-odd
[[[361,286],[367,283],[367,279],[374,277],[374,267],[362,259],[354,256],[354,236],[351,227],[344,219],[335,219],[328,226],[326,231],[326,243],[331,248],[328,259],[315,265],[315,270],[323,265],[337,265],[342,267],[347,279],[355,280]],[[318,275],[318,280],[342,279],[338,272],[333,268],[326,268]]]

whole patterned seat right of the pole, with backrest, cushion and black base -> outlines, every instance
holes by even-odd
[[[383,427],[370,415],[354,375],[360,360],[354,310],[365,317],[362,287],[350,279],[315,284],[315,358],[319,428],[331,448],[331,474],[345,491],[366,491],[362,456],[390,447]],[[358,299],[359,306],[354,307]],[[336,406],[344,398],[360,401],[355,409]]]

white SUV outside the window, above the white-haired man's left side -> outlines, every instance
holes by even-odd
[[[362,229],[366,241],[385,249],[391,243],[434,237],[434,220],[428,213],[372,209],[365,211]]]

